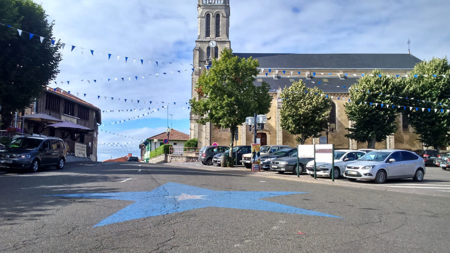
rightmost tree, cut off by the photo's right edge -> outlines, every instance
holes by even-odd
[[[449,77],[450,65],[447,59],[433,58],[428,62],[418,63],[406,80],[404,96],[410,99],[403,103],[407,103],[406,113],[409,122],[425,146],[432,146],[438,150],[441,146],[450,144],[450,136],[448,136],[450,113],[446,112],[450,107],[444,106],[444,104],[450,104]],[[413,109],[410,110],[409,107]],[[432,110],[422,111],[422,108],[432,108]]]

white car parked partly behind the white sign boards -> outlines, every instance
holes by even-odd
[[[334,178],[341,177],[345,172],[345,166],[355,162],[365,152],[358,150],[339,149],[334,150]],[[306,173],[314,177],[314,160],[306,164]],[[316,162],[316,175],[331,177],[331,163]]]

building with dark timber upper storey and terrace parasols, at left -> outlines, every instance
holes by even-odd
[[[24,134],[61,138],[67,148],[67,161],[76,157],[97,161],[99,108],[60,88],[47,87],[20,114]]]

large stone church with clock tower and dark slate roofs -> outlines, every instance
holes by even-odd
[[[199,98],[195,86],[198,78],[207,71],[212,59],[220,58],[220,51],[231,48],[230,0],[198,0],[198,38],[194,49],[194,71],[192,74],[192,97]],[[268,120],[257,131],[257,143],[261,145],[289,145],[295,147],[295,136],[281,129],[279,99],[282,89],[292,82],[303,80],[307,87],[318,87],[332,99],[330,128],[327,133],[329,144],[335,149],[366,148],[367,143],[359,143],[345,137],[346,128],[351,125],[344,105],[349,101],[349,88],[363,75],[373,69],[382,70],[387,75],[404,76],[421,62],[411,54],[278,54],[278,53],[236,53],[233,54],[259,61],[259,74],[255,85],[265,81],[270,85],[272,104],[266,115]],[[248,115],[253,116],[253,115]],[[229,145],[230,131],[216,129],[213,123],[198,124],[199,116],[191,112],[190,136],[198,139],[198,146],[212,143]],[[376,143],[376,149],[422,149],[422,143],[406,120],[398,118],[398,131],[387,136],[386,141]],[[250,145],[253,142],[253,130],[243,123],[238,128],[235,145]],[[310,138],[305,144],[322,144],[323,138]]]

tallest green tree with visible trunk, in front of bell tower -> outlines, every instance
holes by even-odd
[[[198,123],[212,122],[216,128],[230,129],[230,157],[237,126],[254,113],[269,112],[269,85],[253,84],[258,66],[257,60],[239,58],[231,49],[224,49],[220,59],[214,59],[209,70],[199,77],[196,91],[200,98],[190,100],[192,112],[202,116]]]

